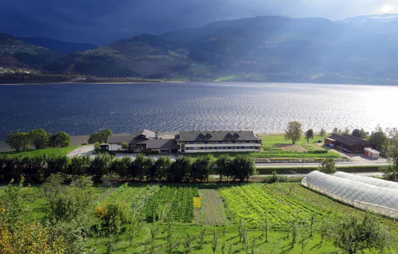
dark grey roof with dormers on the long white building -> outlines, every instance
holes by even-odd
[[[181,131],[176,141],[235,141],[261,140],[251,130]]]

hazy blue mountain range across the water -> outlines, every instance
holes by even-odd
[[[0,34],[0,66],[100,77],[398,83],[396,27],[398,14],[341,21],[263,16],[100,47]]]

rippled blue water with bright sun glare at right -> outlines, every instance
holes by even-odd
[[[0,140],[44,128],[70,135],[110,128],[372,130],[398,126],[398,86],[244,82],[0,85]]]

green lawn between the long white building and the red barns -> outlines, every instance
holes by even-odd
[[[303,158],[320,160],[324,158],[342,158],[338,153],[317,145],[318,143],[316,141],[322,138],[320,136],[314,136],[309,143],[307,143],[305,137],[302,136],[294,145],[290,140],[285,140],[283,134],[261,135],[259,138],[263,141],[261,151],[259,152],[217,152],[211,154],[216,158],[221,154],[227,154],[231,157],[235,157],[237,154],[246,154],[256,159],[272,160]],[[196,159],[200,155],[203,155],[203,153],[185,153],[185,156],[189,156],[193,159]]]

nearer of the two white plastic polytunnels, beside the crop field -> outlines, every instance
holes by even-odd
[[[379,187],[319,171],[308,173],[301,185],[364,211],[398,218],[398,190]]]

